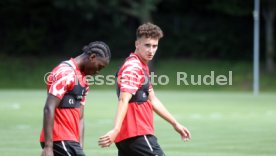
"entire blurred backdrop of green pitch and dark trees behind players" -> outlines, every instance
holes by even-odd
[[[276,0],[261,0],[260,94],[253,90],[253,0],[1,0],[0,155],[39,155],[47,96],[44,76],[91,41],[112,51],[100,74],[114,75],[134,51],[137,27],[164,31],[152,70],[169,83],[155,94],[192,133],[183,143],[155,116],[155,135],[169,156],[275,156]],[[177,85],[177,72],[225,75],[226,85]],[[162,79],[164,80],[164,79]],[[228,79],[229,80],[229,79]],[[162,81],[165,82],[165,81]],[[112,128],[114,85],[91,85],[85,109],[85,153],[114,156],[97,140]]]

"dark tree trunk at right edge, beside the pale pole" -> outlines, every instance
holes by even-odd
[[[268,73],[274,72],[274,19],[276,13],[276,1],[266,0],[263,3],[263,15],[265,19],[266,37],[266,70]]]

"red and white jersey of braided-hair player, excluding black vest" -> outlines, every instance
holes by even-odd
[[[70,64],[70,65],[68,65]],[[85,75],[81,73],[76,61],[71,58],[53,69],[47,78],[47,91],[59,99],[74,88],[77,83],[86,88],[86,94],[81,100],[85,104],[89,86]],[[80,108],[56,108],[53,128],[53,141],[71,140],[79,142]],[[40,135],[40,142],[44,142],[44,130]]]

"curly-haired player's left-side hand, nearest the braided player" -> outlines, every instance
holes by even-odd
[[[111,130],[99,138],[98,144],[102,148],[109,147],[118,135],[118,131]]]

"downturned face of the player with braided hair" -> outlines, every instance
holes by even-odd
[[[102,58],[92,54],[88,57],[87,63],[84,67],[85,75],[96,75],[99,74],[100,70],[109,64],[108,58]]]

